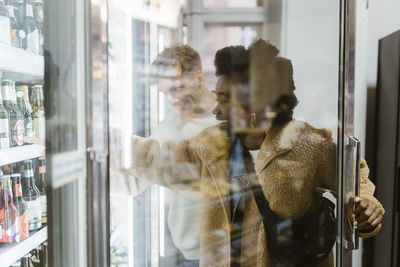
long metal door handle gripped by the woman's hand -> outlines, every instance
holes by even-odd
[[[355,162],[355,174],[354,174],[354,195],[355,197],[360,196],[360,162],[361,162],[361,144],[360,141],[351,136],[349,137],[349,146],[353,147],[356,149],[356,162]],[[355,221],[354,218],[354,211],[355,211],[355,205],[353,206],[353,221]],[[359,248],[359,243],[360,243],[360,233],[357,228],[357,225],[353,225],[353,240],[354,240],[354,246],[353,249],[356,250]]]

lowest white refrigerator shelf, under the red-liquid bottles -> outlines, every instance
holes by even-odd
[[[7,247],[0,247],[0,267],[10,266],[46,240],[47,226],[40,230],[30,232],[30,236],[19,243],[10,244]]]

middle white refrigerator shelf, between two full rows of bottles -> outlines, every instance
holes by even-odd
[[[44,155],[45,147],[32,144],[0,150],[0,166]]]

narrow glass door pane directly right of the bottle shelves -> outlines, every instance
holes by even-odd
[[[49,266],[87,266],[86,1],[46,1]]]

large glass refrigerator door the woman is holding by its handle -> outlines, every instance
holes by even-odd
[[[250,191],[254,180],[238,170],[234,175],[228,166],[240,149],[236,145],[250,150],[243,157],[252,156],[256,181],[269,185],[262,189],[271,209],[288,219],[279,226],[287,230],[276,236],[279,242],[291,238],[292,223],[313,210],[319,199],[314,193],[322,192],[337,219],[323,237],[331,246],[322,260],[351,266],[358,237],[347,227],[346,207],[358,191],[357,160],[350,160],[358,145],[349,135],[354,101],[349,2],[108,1],[112,266],[288,263],[293,255],[265,256],[270,240]],[[289,60],[278,59],[289,62],[286,70],[266,64],[269,54],[252,46],[260,38]],[[218,58],[217,51],[228,46],[235,47]],[[290,90],[272,105],[268,101],[275,96],[268,90],[276,84],[287,89],[280,75],[289,77]],[[285,121],[286,130],[276,121],[267,123],[290,107],[294,120]],[[262,131],[252,129],[257,127]],[[308,162],[305,150],[292,154],[299,149],[294,144],[308,142],[304,128],[329,143],[329,149],[316,145],[312,153],[320,154]],[[278,136],[268,132],[274,129]],[[261,136],[268,145],[259,143]],[[309,141],[317,142],[313,138]]]

